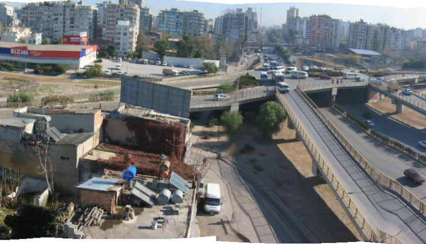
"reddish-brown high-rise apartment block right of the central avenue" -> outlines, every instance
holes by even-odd
[[[309,19],[309,45],[338,47],[338,30],[340,20],[328,15],[312,15]]]

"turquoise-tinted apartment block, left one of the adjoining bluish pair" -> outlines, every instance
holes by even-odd
[[[177,8],[171,8],[170,10],[160,10],[156,20],[158,20],[158,30],[166,32],[174,36],[182,36],[182,21],[184,19],[184,13],[179,12]]]

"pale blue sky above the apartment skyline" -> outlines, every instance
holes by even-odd
[[[13,6],[21,6],[25,3],[18,2],[36,2],[35,0],[12,0]],[[41,1],[41,0],[39,0]],[[74,0],[77,1],[77,0]],[[101,0],[83,0],[84,4],[95,5]],[[113,0],[118,3],[118,0]],[[289,7],[299,8],[299,16],[309,17],[311,15],[326,14],[333,19],[350,20],[351,22],[360,19],[368,23],[385,23],[393,27],[403,28],[405,30],[422,28],[426,29],[426,1],[422,0],[357,0],[354,4],[346,4],[343,0],[310,0],[309,2],[291,1],[271,1],[271,0],[145,0],[146,6],[153,10],[154,16],[157,16],[160,10],[178,8],[180,11],[191,11],[197,9],[204,13],[207,19],[214,19],[227,13],[229,10],[252,7],[258,13],[261,26],[281,26],[286,20],[286,10]],[[245,2],[244,4],[241,4]],[[351,1],[354,2],[354,1]],[[5,3],[8,3],[5,1]],[[230,4],[232,3],[232,4]]]

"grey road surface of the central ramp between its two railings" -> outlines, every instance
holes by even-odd
[[[296,91],[290,91],[283,97],[341,185],[349,192],[355,205],[373,225],[373,229],[376,230],[374,226],[377,226],[396,235],[402,243],[424,243],[424,216],[419,216],[416,210],[399,197],[380,189]]]

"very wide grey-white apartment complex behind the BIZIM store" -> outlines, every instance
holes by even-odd
[[[94,38],[96,21],[96,7],[72,0],[31,2],[22,9],[22,24],[53,40],[72,31],[85,31]]]

